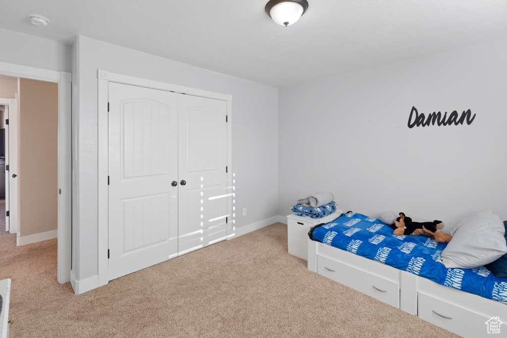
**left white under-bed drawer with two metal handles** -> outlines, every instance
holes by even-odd
[[[317,273],[400,308],[400,283],[317,255]]]

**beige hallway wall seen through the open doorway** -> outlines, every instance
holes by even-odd
[[[58,85],[20,80],[20,236],[57,230]]]

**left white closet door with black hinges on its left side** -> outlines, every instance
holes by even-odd
[[[109,279],[177,256],[177,94],[109,84]]]

